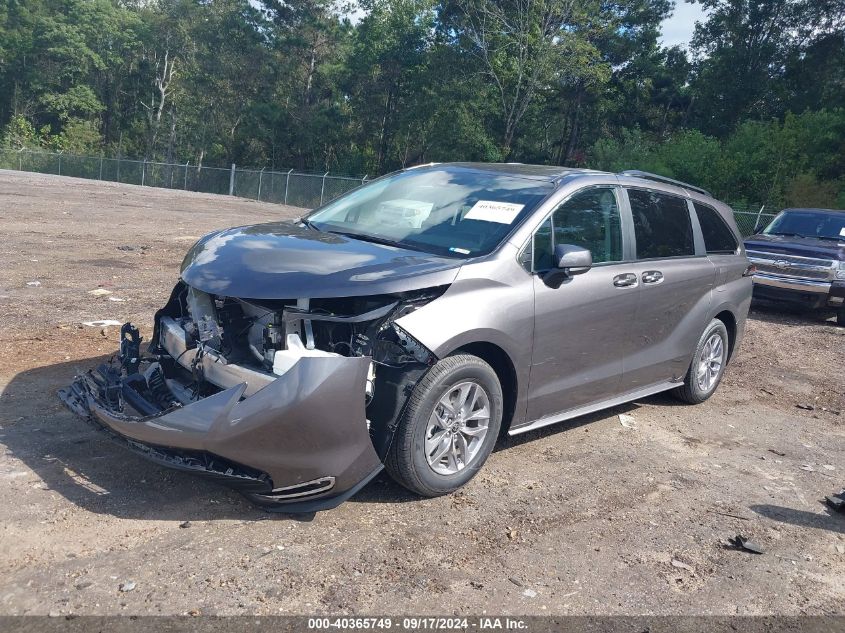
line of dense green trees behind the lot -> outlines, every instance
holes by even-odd
[[[4,0],[0,144],[638,168],[845,207],[845,0],[699,2],[683,49],[659,42],[671,0]]]

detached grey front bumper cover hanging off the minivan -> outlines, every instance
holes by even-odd
[[[152,415],[126,413],[124,394],[146,378],[115,367],[77,377],[60,397],[148,459],[219,480],[270,509],[313,512],[339,505],[383,467],[366,421],[369,365],[367,357],[303,357],[258,390],[241,383]]]

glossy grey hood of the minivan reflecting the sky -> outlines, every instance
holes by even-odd
[[[447,285],[461,263],[272,222],[206,235],[185,256],[181,277],[204,292],[244,299],[353,297]]]

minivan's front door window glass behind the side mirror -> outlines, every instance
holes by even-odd
[[[622,220],[613,189],[580,191],[554,210],[534,234],[534,270],[554,268],[555,244],[586,248],[596,264],[622,261]]]

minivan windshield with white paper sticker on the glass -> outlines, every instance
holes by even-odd
[[[373,181],[309,215],[321,231],[452,257],[491,252],[551,182],[466,167],[408,170]]]

